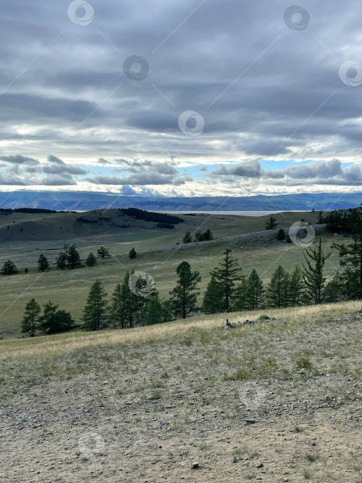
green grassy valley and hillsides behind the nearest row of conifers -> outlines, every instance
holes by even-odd
[[[108,213],[101,213],[102,216]],[[42,214],[43,215],[43,214]],[[89,218],[94,215],[81,214],[83,217]],[[97,218],[99,213],[96,214]],[[94,215],[94,216],[96,216]],[[12,219],[10,215],[3,218]],[[50,233],[53,233],[54,223],[56,220],[60,226],[63,226],[64,220],[68,224],[72,224],[75,217],[79,213],[57,213],[55,215],[46,215],[49,217],[49,224],[46,225],[46,230],[43,232],[45,240]],[[17,227],[24,223],[27,218],[34,217],[34,215],[26,215],[22,213],[14,214],[17,219]],[[46,218],[43,216],[43,218]],[[70,220],[68,219],[70,217]],[[280,227],[288,229],[292,223],[304,217],[306,221],[315,221],[316,213],[283,213],[277,215],[280,222]],[[1,218],[1,217],[0,217]],[[211,244],[203,243],[198,246],[192,246],[182,250],[161,251],[163,248],[175,245],[181,242],[182,236],[186,230],[195,230],[202,226],[202,229],[211,228],[214,237],[221,239],[224,237],[233,237],[250,233],[257,230],[263,230],[265,226],[265,219],[267,217],[237,217],[233,215],[196,215],[184,217],[187,221],[175,226],[174,230],[154,230],[154,224],[150,224],[148,228],[143,228],[145,222],[132,221],[130,224],[135,225],[132,228],[132,233],[113,234],[110,236],[110,244],[106,242],[108,239],[107,226],[104,228],[104,233],[97,234],[97,243],[94,240],[86,240],[83,238],[71,239],[53,239],[51,242],[32,242],[31,240],[17,240],[16,242],[5,241],[0,244],[1,260],[10,258],[20,266],[28,266],[30,273],[25,275],[12,275],[10,277],[0,277],[0,337],[17,337],[20,335],[20,324],[23,315],[23,310],[32,297],[37,299],[40,304],[45,304],[49,299],[52,302],[59,303],[60,308],[66,308],[72,316],[79,322],[83,306],[86,302],[91,284],[96,279],[101,279],[106,291],[110,294],[117,284],[123,279],[126,270],[141,270],[150,274],[155,282],[156,288],[161,293],[161,297],[168,297],[168,291],[177,280],[176,268],[180,262],[188,261],[193,270],[199,270],[202,277],[201,293],[199,302],[202,300],[203,292],[210,280],[210,270],[219,264],[223,257],[225,248],[231,248],[232,256],[238,259],[239,265],[243,268],[243,275],[250,275],[253,268],[257,270],[265,283],[268,283],[272,272],[281,264],[286,270],[294,270],[295,266],[301,266],[303,262],[304,250],[294,244],[285,244],[277,242],[276,240],[268,239],[254,239],[249,242],[235,243],[235,242],[212,242]],[[34,218],[37,221],[37,217]],[[50,222],[51,221],[51,222]],[[127,221],[127,222],[128,222]],[[49,228],[50,227],[50,228]],[[103,230],[102,228],[102,230]],[[7,230],[7,228],[4,228]],[[110,228],[109,228],[110,229]],[[61,230],[58,230],[61,233]],[[53,237],[59,237],[58,231],[55,230]],[[172,233],[169,233],[172,231]],[[128,229],[126,230],[128,233]],[[48,235],[46,235],[48,233]],[[23,232],[18,230],[19,237],[26,236],[26,230]],[[74,234],[73,234],[74,235]],[[125,242],[114,243],[117,237],[131,237],[132,241],[127,239]],[[103,238],[104,237],[104,238]],[[332,242],[345,242],[344,237],[326,237],[325,248],[328,250]],[[104,244],[110,247],[112,252],[111,259],[105,259],[104,262],[99,260],[99,264],[95,267],[79,268],[77,270],[52,270],[46,273],[38,273],[36,270],[37,259],[39,253],[45,253],[52,260],[59,253],[63,242],[76,243],[79,246],[81,257],[85,258],[92,250],[97,253],[97,248]],[[113,242],[113,243],[112,243]],[[59,250],[35,250],[35,248],[49,246],[58,246]],[[134,248],[139,253],[137,259],[130,260],[128,253],[130,248]],[[35,247],[35,248],[34,248]],[[153,253],[142,253],[145,250],[159,249]],[[332,276],[339,268],[339,258],[336,250],[326,265],[326,274],[328,277]]]

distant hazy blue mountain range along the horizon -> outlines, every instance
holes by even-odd
[[[48,208],[50,210],[96,210],[140,208],[181,211],[332,210],[356,208],[362,193],[302,193],[299,195],[255,195],[250,197],[145,197],[112,193],[34,192],[0,193],[0,208]]]

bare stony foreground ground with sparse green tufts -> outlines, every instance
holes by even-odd
[[[362,482],[361,336],[283,315],[3,358],[0,481]]]

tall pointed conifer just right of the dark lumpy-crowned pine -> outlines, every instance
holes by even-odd
[[[232,293],[234,291],[235,282],[239,281],[240,279],[240,270],[238,266],[238,262],[236,259],[233,259],[229,256],[231,250],[228,248],[224,252],[224,259],[219,265],[221,268],[214,268],[211,275],[215,277],[215,280],[223,290],[223,307],[221,308],[222,311],[228,312],[230,309],[230,300],[232,297]]]

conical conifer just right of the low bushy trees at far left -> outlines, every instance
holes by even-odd
[[[87,303],[83,310],[83,329],[86,331],[99,331],[107,326],[108,311],[107,294],[100,280],[94,282],[87,297]]]

